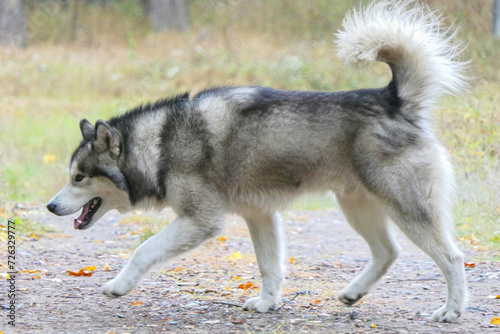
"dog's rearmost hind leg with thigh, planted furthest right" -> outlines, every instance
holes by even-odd
[[[362,174],[365,184],[384,203],[396,225],[436,262],[446,279],[446,304],[432,319],[456,321],[465,306],[467,287],[463,253],[451,235],[453,176],[444,150],[430,142],[427,149],[421,146],[406,152],[390,164],[369,158],[370,168]]]

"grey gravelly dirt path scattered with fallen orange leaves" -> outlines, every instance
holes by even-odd
[[[42,209],[40,209],[42,210]],[[163,213],[166,219],[172,213]],[[132,217],[119,224],[108,214],[87,231],[72,219],[43,216],[57,233],[30,238],[17,249],[16,328],[19,333],[489,333],[500,316],[500,263],[475,261],[467,269],[469,307],[458,324],[437,324],[429,314],[444,303],[444,278],[435,264],[399,233],[403,254],[375,291],[354,307],[336,300],[367,264],[364,242],[335,210],[284,215],[287,281],[284,305],[268,314],[244,312],[257,290],[238,286],[260,276],[244,223],[228,217],[220,238],[168,263],[120,299],[100,294],[139,244],[141,226]],[[2,246],[2,250],[6,245]],[[239,253],[238,253],[239,252]],[[241,258],[239,256],[241,254]],[[474,262],[467,253],[468,262]],[[2,253],[2,260],[6,257]],[[292,260],[293,262],[293,260]],[[96,266],[91,277],[69,276],[67,269]],[[105,270],[108,266],[111,270]],[[32,270],[33,272],[26,272]],[[39,272],[37,272],[37,270]],[[39,278],[38,278],[39,277]],[[6,291],[2,280],[2,291]],[[299,293],[300,292],[300,293]],[[2,294],[2,305],[5,305]],[[5,310],[4,310],[5,311]],[[15,332],[0,318],[0,331]],[[2,329],[3,328],[3,329]]]

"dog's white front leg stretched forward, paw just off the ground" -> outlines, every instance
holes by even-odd
[[[177,218],[140,245],[118,276],[103,286],[102,293],[112,298],[129,293],[152,266],[195,248],[221,229],[220,220],[208,223],[191,217]]]

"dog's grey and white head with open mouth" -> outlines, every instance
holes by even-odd
[[[47,205],[47,209],[64,216],[82,209],[74,220],[75,229],[92,226],[112,209],[127,211],[130,201],[125,177],[119,168],[122,138],[118,130],[99,120],[93,126],[80,121],[83,140],[71,157],[70,181]]]

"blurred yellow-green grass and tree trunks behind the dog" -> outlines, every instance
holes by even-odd
[[[357,71],[335,57],[343,16],[366,2],[0,1],[1,213],[15,215],[15,203],[46,203],[67,182],[81,118],[94,122],[213,85],[324,91],[386,85],[387,66]],[[460,27],[463,58],[472,60],[469,92],[446,97],[436,110],[439,137],[456,166],[457,230],[471,247],[499,250],[494,0],[425,2],[443,11],[446,24]]]

